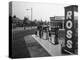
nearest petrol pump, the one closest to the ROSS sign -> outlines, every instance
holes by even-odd
[[[49,31],[49,41],[54,45],[58,44],[58,30],[59,27],[55,26],[52,27],[51,30]]]

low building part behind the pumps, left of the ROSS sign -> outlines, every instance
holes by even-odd
[[[50,25],[53,28],[59,27],[60,29],[64,29],[64,16],[50,17]]]

